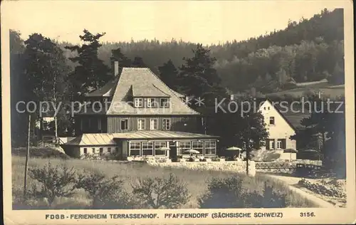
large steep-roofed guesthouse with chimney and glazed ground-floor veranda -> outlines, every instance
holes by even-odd
[[[215,156],[218,137],[203,135],[199,112],[184,103],[149,68],[119,68],[112,80],[86,95],[75,115],[78,137],[62,145],[72,157],[115,153],[119,159]],[[90,103],[90,104],[89,104]],[[162,147],[169,150],[162,151]]]

